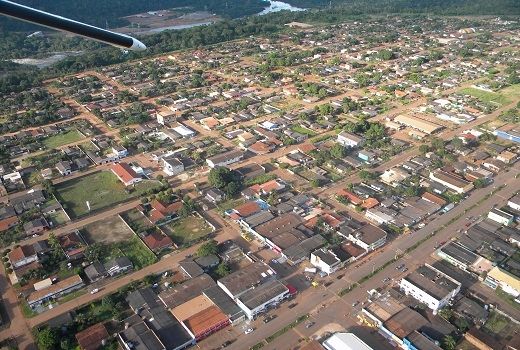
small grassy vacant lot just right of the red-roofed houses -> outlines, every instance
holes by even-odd
[[[163,230],[178,246],[197,241],[212,232],[211,226],[198,216],[190,216],[163,226]]]

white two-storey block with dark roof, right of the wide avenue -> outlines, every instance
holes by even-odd
[[[406,295],[425,304],[434,314],[459,293],[460,286],[459,282],[428,264],[403,277],[399,284]]]

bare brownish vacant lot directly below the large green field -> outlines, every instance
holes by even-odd
[[[127,241],[134,236],[132,230],[117,215],[83,227],[82,233],[89,244],[100,243],[103,245]]]

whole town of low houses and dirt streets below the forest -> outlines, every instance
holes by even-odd
[[[1,96],[3,346],[520,349],[518,27],[286,26]]]

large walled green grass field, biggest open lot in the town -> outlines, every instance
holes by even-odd
[[[71,218],[88,213],[86,202],[91,210],[110,208],[116,203],[140,197],[150,188],[159,185],[156,181],[143,181],[129,186],[130,193],[125,192],[121,183],[111,171],[99,171],[77,179],[60,183],[56,186],[56,198],[65,207]]]

